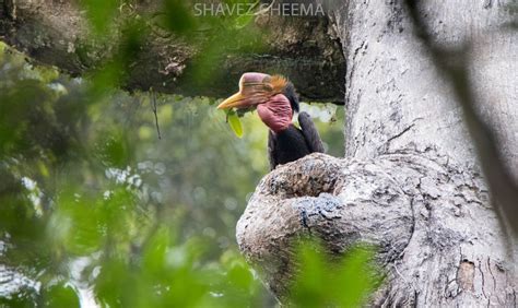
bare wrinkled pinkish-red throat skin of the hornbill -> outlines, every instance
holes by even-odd
[[[262,122],[274,132],[283,131],[292,123],[293,110],[290,100],[283,94],[276,94],[266,103],[259,104],[257,112]]]

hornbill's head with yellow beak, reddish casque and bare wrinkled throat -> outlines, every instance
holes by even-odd
[[[293,112],[298,111],[298,96],[293,84],[281,75],[244,73],[239,92],[223,100],[219,109],[257,108],[261,120],[274,132],[286,129]]]

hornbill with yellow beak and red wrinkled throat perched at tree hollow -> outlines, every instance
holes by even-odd
[[[314,152],[323,153],[320,135],[307,112],[298,112],[295,86],[282,75],[247,72],[239,79],[239,92],[224,99],[217,109],[257,109],[269,128],[268,157],[270,170]],[[297,128],[292,119],[298,112]]]

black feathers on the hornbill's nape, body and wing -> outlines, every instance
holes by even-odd
[[[292,83],[286,85],[283,94],[290,100],[292,109],[298,111],[298,97]],[[278,165],[296,161],[310,153],[323,153],[322,141],[311,117],[307,112],[299,112],[298,125],[301,129],[290,125],[287,129],[280,132],[269,131],[268,157],[271,170]]]

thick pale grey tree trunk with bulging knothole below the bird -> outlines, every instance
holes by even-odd
[[[446,48],[471,42],[480,114],[518,176],[518,40],[504,1],[425,1]],[[333,11],[346,47],[345,158],[314,154],[259,183],[237,224],[239,248],[279,296],[291,239],[313,234],[332,251],[380,248],[388,272],[372,304],[517,307],[514,239],[492,206],[451,85],[436,70],[399,1]]]

